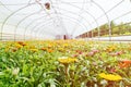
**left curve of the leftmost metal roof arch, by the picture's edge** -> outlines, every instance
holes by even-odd
[[[31,4],[27,4],[27,5],[23,7],[23,8],[20,8],[19,10],[14,11],[13,13],[11,13],[11,14],[4,20],[4,22],[3,22],[2,26],[1,26],[1,40],[2,40],[3,27],[4,27],[5,23],[7,23],[7,21],[8,21],[12,15],[14,15],[15,13],[17,13],[19,11],[21,11],[21,10],[27,8],[27,7],[31,7],[31,5],[33,5],[33,4],[34,4],[34,3],[31,3]]]

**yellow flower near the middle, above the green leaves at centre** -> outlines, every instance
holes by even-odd
[[[69,58],[69,57],[62,57],[62,58],[59,58],[58,61],[60,63],[68,64],[68,63],[76,62],[78,59],[75,59],[75,58]]]

